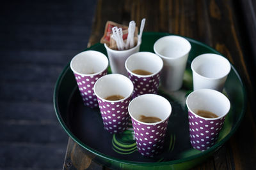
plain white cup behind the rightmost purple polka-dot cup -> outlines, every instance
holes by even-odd
[[[197,89],[213,89],[222,91],[231,66],[221,55],[204,53],[198,55],[192,63],[193,87]]]

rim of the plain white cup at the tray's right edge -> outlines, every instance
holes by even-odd
[[[224,74],[223,76],[216,77],[216,78],[209,78],[209,77],[203,76],[203,75],[197,73],[197,71],[195,71],[195,68],[193,67],[193,65],[195,64],[196,60],[198,60],[199,58],[204,57],[204,56],[206,56],[206,55],[209,55],[209,54],[215,55],[216,57],[218,56],[218,57],[224,59],[225,62],[228,63],[228,71],[227,71],[227,74]],[[199,57],[199,58],[198,58],[198,57]],[[223,57],[222,55],[218,55],[218,54],[216,54],[216,53],[203,53],[203,54],[198,55],[197,57],[195,57],[195,59],[193,59],[193,61],[191,62],[191,69],[192,69],[193,73],[195,73],[196,75],[200,76],[201,78],[205,78],[206,80],[218,80],[218,79],[221,79],[221,78],[225,78],[225,76],[227,76],[227,75],[230,73],[231,65],[230,65],[230,62],[228,61],[228,59],[226,59],[226,58]]]

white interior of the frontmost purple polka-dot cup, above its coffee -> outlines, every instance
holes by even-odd
[[[156,94],[144,94],[134,98],[128,107],[129,114],[141,124],[159,124],[170,117],[172,106],[168,100]],[[161,121],[145,123],[140,121],[141,115],[145,117],[157,117]]]

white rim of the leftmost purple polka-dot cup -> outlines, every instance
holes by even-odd
[[[78,55],[83,55],[84,53],[97,53],[97,54],[100,54],[102,56],[102,59],[104,59],[106,61],[106,66],[104,67],[104,69],[98,71],[97,73],[93,73],[93,74],[84,74],[84,73],[79,73],[78,71],[76,71],[74,69],[74,67],[72,66],[72,63],[74,62],[74,59],[78,56]],[[103,57],[104,56],[104,57]],[[106,57],[106,55],[104,53],[101,53],[101,52],[98,52],[98,51],[95,51],[95,50],[86,50],[84,52],[80,52],[80,53],[77,53],[73,58],[72,60],[70,61],[70,69],[73,71],[73,73],[76,73],[76,74],[79,74],[81,76],[96,76],[97,74],[100,74],[102,72],[104,72],[106,69],[108,68],[108,57]]]

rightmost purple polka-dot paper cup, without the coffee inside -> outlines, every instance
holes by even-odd
[[[207,150],[213,146],[230,110],[230,101],[221,92],[211,89],[195,90],[187,101],[190,143],[197,150]],[[211,111],[217,117],[205,118],[198,111]]]

